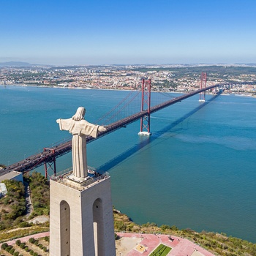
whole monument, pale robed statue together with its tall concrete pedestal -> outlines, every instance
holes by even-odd
[[[72,118],[58,119],[72,138],[72,172],[50,180],[50,255],[116,255],[110,176],[88,173],[86,135],[94,138],[105,127],[84,120],[78,108]]]

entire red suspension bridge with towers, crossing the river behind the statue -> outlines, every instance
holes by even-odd
[[[204,73],[205,74],[205,73]],[[203,84],[203,86],[202,86]],[[154,105],[154,107],[151,107],[151,80],[142,80],[142,90],[141,92],[138,92],[135,96],[128,99],[123,99],[116,108],[111,110],[109,113],[105,114],[102,118],[100,118],[97,121],[97,124],[104,123],[106,131],[105,132],[99,132],[97,138],[92,138],[91,136],[87,136],[86,142],[90,143],[94,140],[97,140],[98,138],[101,138],[105,135],[108,135],[110,132],[116,131],[116,129],[120,129],[122,127],[126,127],[128,124],[131,124],[134,121],[138,121],[140,119],[140,135],[150,135],[150,116],[151,113],[157,112],[158,110],[161,110],[163,108],[166,108],[170,105],[175,104],[176,102],[181,102],[184,99],[187,99],[189,97],[192,97],[195,94],[202,95],[205,94],[205,91],[216,89],[217,87],[221,87],[223,84],[216,84],[214,86],[208,86],[206,87],[206,76],[201,76],[201,86],[200,89],[197,91],[192,91],[189,94],[184,94],[179,97],[175,97],[173,99],[169,99],[165,102],[159,103],[157,105]],[[113,121],[110,123],[111,120],[113,120],[113,117],[118,116],[118,113],[121,113],[124,108],[126,108],[128,105],[131,104],[132,100],[141,93],[141,106],[140,111],[138,113],[129,115],[125,118],[120,118],[118,121]],[[201,96],[200,96],[201,97]],[[201,98],[200,98],[201,99]],[[205,99],[205,98],[203,98]],[[72,149],[72,141],[68,140],[64,143],[59,143],[59,145],[50,147],[50,148],[44,148],[42,152],[39,154],[34,154],[31,157],[28,157],[20,162],[16,162],[12,165],[9,165],[5,167],[0,172],[0,176],[3,176],[4,174],[10,173],[10,171],[15,170],[21,173],[26,173],[31,170],[34,170],[35,168],[45,165],[45,176],[48,177],[48,170],[52,170],[54,174],[56,174],[56,158],[63,156],[64,154],[67,154]]]

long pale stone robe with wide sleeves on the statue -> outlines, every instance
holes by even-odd
[[[72,137],[73,175],[85,178],[88,174],[86,158],[86,135],[97,138],[99,125],[86,120],[75,121],[72,118],[59,119],[59,129],[69,131]]]

